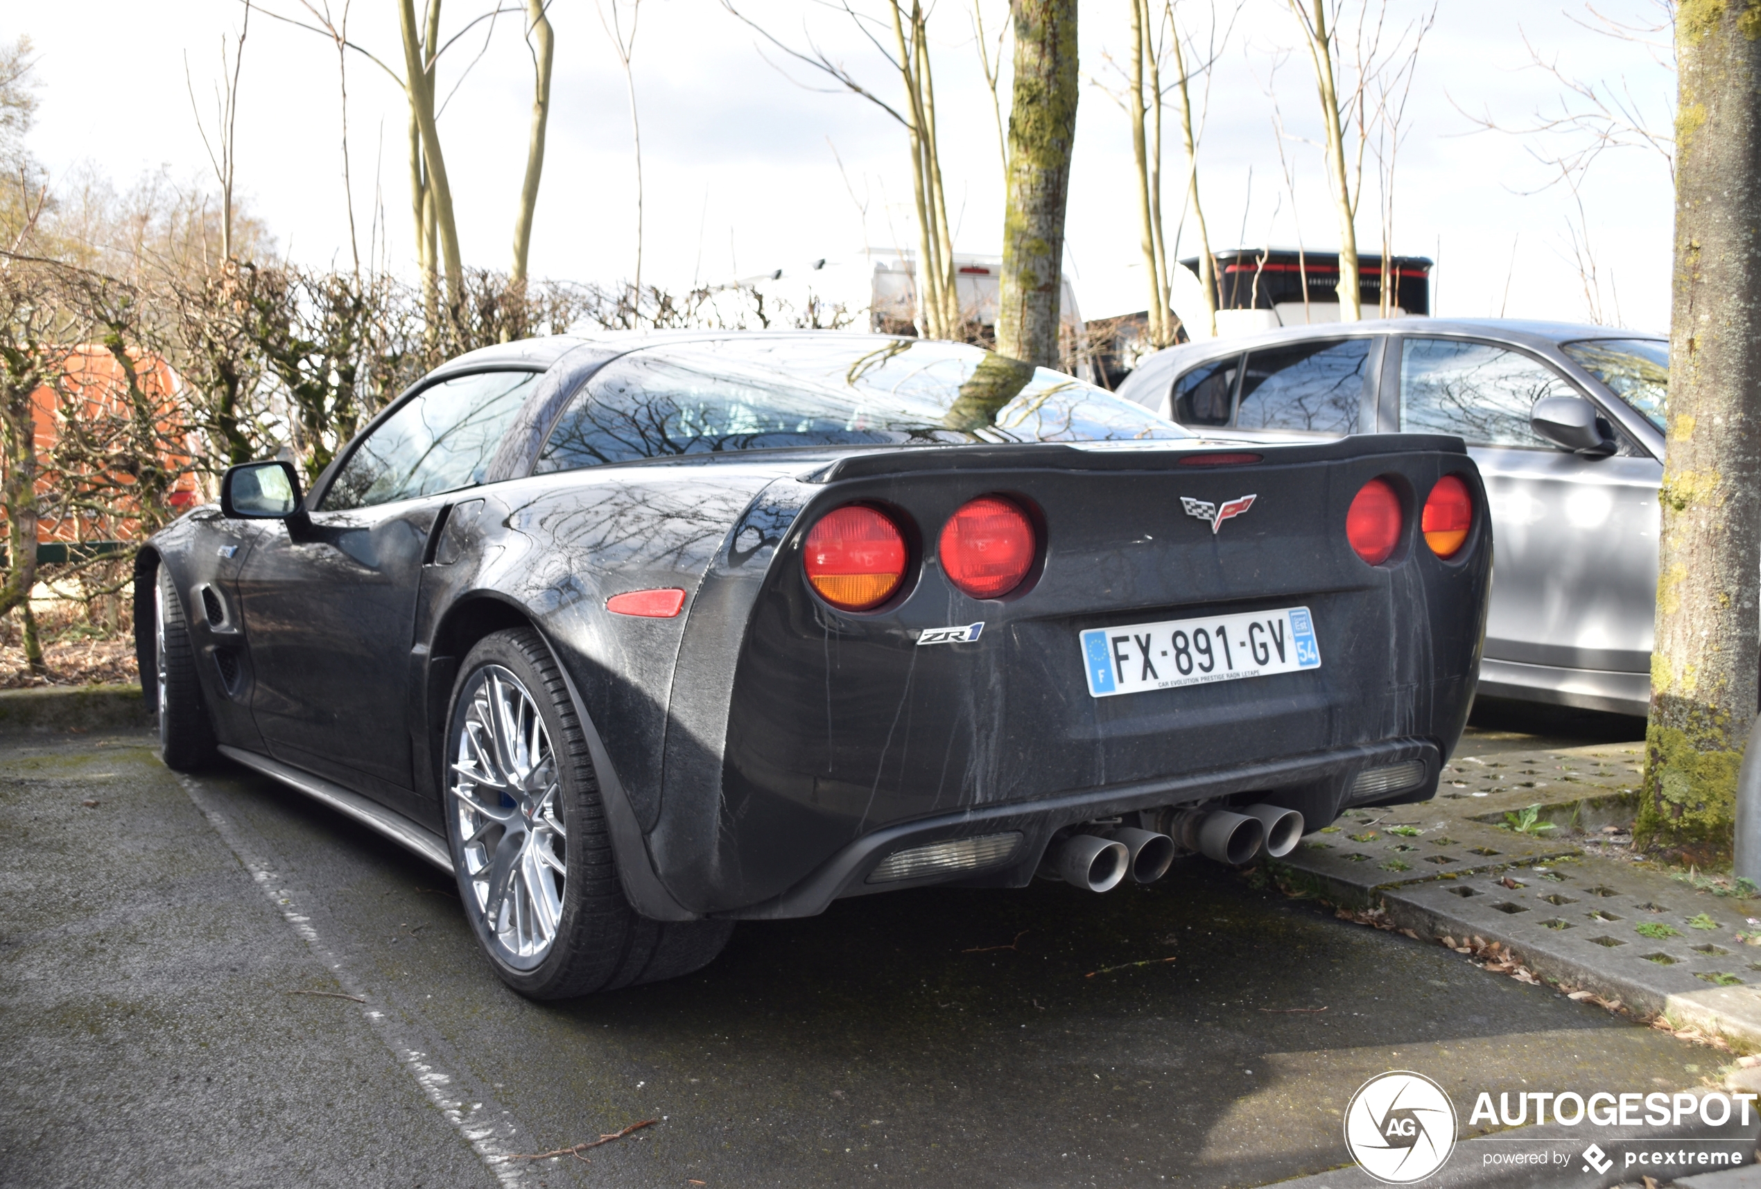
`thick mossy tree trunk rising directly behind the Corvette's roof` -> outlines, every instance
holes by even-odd
[[[997,351],[1057,366],[1064,206],[1076,141],[1076,0],[1014,0],[1014,97]]]

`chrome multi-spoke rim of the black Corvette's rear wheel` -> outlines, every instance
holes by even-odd
[[[509,669],[477,669],[465,699],[449,786],[465,877],[500,956],[530,969],[556,939],[567,879],[556,759]]]

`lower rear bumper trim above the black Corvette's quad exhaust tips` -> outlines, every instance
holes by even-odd
[[[1162,805],[1183,805],[1234,796],[1240,793],[1264,793],[1271,803],[1280,803],[1278,789],[1315,789],[1331,787],[1344,791],[1352,777],[1367,768],[1379,768],[1409,759],[1425,761],[1425,779],[1395,794],[1381,793],[1368,801],[1421,801],[1437,791],[1437,775],[1442,754],[1428,740],[1389,740],[1365,747],[1345,747],[1330,752],[1312,752],[1259,764],[1242,764],[1220,772],[1192,773],[1162,780],[1143,780],[1129,786],[1109,786],[1104,789],[1079,789],[1034,801],[1016,801],[1002,805],[984,805],[956,814],[926,817],[886,830],[875,830],[842,847],[810,875],[801,879],[789,891],[743,909],[713,912],[711,916],[731,919],[780,919],[794,916],[814,916],[842,897],[858,897],[875,891],[895,891],[903,888],[921,888],[928,884],[962,884],[979,888],[1021,888],[1039,868],[1041,856],[1051,837],[1071,824],[1113,817]],[[1340,809],[1352,801],[1335,801]],[[902,879],[884,884],[865,883],[868,874],[886,856],[932,842],[970,838],[977,835],[995,835],[1020,831],[1021,842],[1006,865],[976,874],[932,875],[925,879]]]

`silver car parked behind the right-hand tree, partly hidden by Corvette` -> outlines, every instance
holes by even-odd
[[[1497,560],[1479,691],[1647,712],[1669,343],[1506,319],[1391,319],[1169,347],[1120,395],[1231,437],[1458,433]]]

